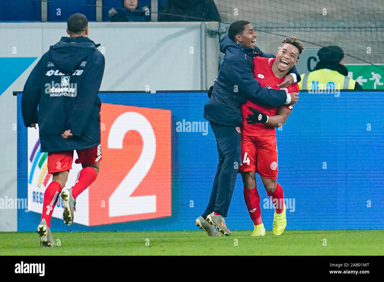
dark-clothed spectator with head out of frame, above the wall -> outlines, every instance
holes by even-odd
[[[220,15],[213,0],[167,0],[158,21],[220,21]]]

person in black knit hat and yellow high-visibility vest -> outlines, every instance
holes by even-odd
[[[357,81],[347,77],[348,69],[344,66],[343,49],[339,46],[326,46],[321,48],[317,55],[319,61],[314,71],[301,74],[300,90],[362,89]]]

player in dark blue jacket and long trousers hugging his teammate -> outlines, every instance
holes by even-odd
[[[247,100],[266,106],[292,105],[298,101],[298,93],[266,89],[255,79],[253,58],[274,57],[255,46],[256,37],[248,21],[235,21],[230,25],[228,35],[220,41],[220,51],[225,53],[220,72],[215,79],[212,96],[204,105],[204,118],[210,121],[215,134],[219,164],[208,206],[195,222],[210,236],[218,235],[215,227],[221,233],[230,235],[224,217],[228,214],[241,162],[240,106]],[[297,79],[300,81],[300,76],[294,68],[279,87],[283,89]]]

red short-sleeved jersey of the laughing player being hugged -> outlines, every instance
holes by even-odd
[[[278,90],[285,90],[287,93],[291,92],[299,92],[299,85],[297,83],[293,83],[287,88],[280,88],[276,85],[280,84],[284,81],[283,78],[276,78],[275,74],[272,71],[272,63],[275,61],[274,58],[263,58],[256,57],[253,59],[253,75],[259,82],[259,84],[265,88],[273,88]],[[243,116],[243,125],[241,128],[241,133],[247,136],[271,136],[276,135],[276,130],[274,127],[269,127],[264,123],[258,124],[247,124],[247,116],[248,114],[253,114],[248,107],[253,107],[254,109],[260,110],[260,112],[272,116],[277,115],[279,107],[270,107],[263,106],[260,104],[255,104],[251,101],[247,101],[242,106],[242,116]],[[292,110],[292,106],[284,106],[287,109]]]

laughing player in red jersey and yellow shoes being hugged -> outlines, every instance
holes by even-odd
[[[295,66],[304,45],[296,37],[287,37],[274,58],[253,59],[253,74],[259,84],[266,88],[283,89],[287,93],[299,92],[297,83],[286,88],[277,87],[288,71]],[[277,183],[278,161],[275,127],[282,126],[293,106],[268,107],[247,101],[242,106],[241,128],[242,165],[239,172],[244,183],[244,200],[254,224],[252,236],[264,236],[265,228],[260,212],[260,196],[256,188],[255,173],[263,182],[266,193],[275,206],[273,234],[280,235],[286,227],[286,206],[283,188]]]

